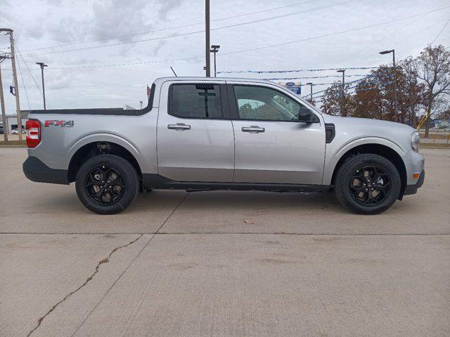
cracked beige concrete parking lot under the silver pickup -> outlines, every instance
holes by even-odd
[[[449,336],[450,150],[379,216],[153,191],[98,216],[0,147],[0,336]]]

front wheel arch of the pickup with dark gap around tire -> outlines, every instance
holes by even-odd
[[[401,181],[399,199],[401,200],[403,198],[407,183],[406,166],[403,159],[401,158],[401,148],[394,143],[392,143],[392,145],[394,146],[390,146],[389,143],[356,143],[352,147],[347,147],[340,150],[340,155],[338,155],[338,157],[335,159],[333,172],[330,176],[330,185],[334,185],[336,173],[348,158],[353,157],[357,154],[378,154],[379,156],[385,157],[386,159],[391,161],[399,172]]]

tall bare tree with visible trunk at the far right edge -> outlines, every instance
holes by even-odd
[[[430,116],[435,100],[450,95],[450,51],[429,45],[417,57],[417,77],[425,83],[425,138],[430,132]]]

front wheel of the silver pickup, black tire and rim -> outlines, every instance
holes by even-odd
[[[342,164],[335,177],[338,201],[357,214],[383,213],[397,200],[400,189],[401,180],[397,168],[390,160],[377,154],[350,157]]]

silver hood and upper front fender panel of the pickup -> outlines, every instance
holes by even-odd
[[[415,129],[406,124],[379,119],[336,117],[329,114],[322,116],[325,123],[335,124],[336,137],[343,136],[349,141],[366,137],[384,138],[396,143],[405,152],[411,149],[411,133]]]

